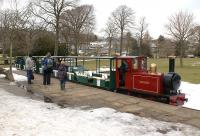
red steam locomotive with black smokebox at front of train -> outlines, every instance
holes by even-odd
[[[171,72],[158,73],[155,64],[147,70],[146,57],[117,57],[116,89],[153,96],[172,105],[183,105],[186,101],[185,94],[178,90],[181,77],[173,72],[173,60],[170,67]]]

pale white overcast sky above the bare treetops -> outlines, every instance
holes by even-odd
[[[4,0],[1,8],[7,7],[9,1]],[[27,0],[18,1],[22,4]],[[149,24],[149,33],[153,38],[158,38],[160,34],[166,35],[164,25],[167,24],[169,16],[180,10],[193,13],[195,22],[200,23],[200,0],[80,0],[80,3],[94,6],[97,34],[104,28],[112,11],[120,5],[127,5],[134,10],[136,23],[140,17],[145,16]]]

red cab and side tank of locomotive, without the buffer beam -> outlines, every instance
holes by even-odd
[[[132,60],[138,62],[137,69],[133,68]],[[142,68],[142,60],[146,61],[146,57],[118,57],[116,60],[116,87],[120,87],[120,70],[118,68],[119,60],[125,60],[128,64],[125,73],[125,88],[133,91],[140,90],[145,93],[162,94],[163,93],[163,74],[151,74],[147,68]]]

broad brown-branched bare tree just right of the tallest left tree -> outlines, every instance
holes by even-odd
[[[75,55],[78,55],[80,34],[88,30],[88,28],[93,28],[95,24],[94,8],[91,5],[82,5],[65,11],[62,17],[63,26],[72,31]]]

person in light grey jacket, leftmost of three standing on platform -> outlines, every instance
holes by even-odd
[[[26,67],[27,79],[28,79],[27,91],[31,92],[30,84],[31,84],[31,80],[33,79],[33,67],[34,67],[34,62],[33,62],[31,54],[29,54],[28,58],[26,59],[25,67]]]

